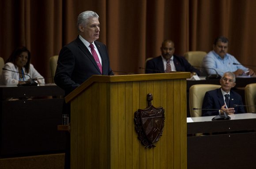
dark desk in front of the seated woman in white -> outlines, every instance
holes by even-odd
[[[52,97],[58,96],[58,97]],[[64,152],[64,91],[56,85],[0,86],[0,158]],[[8,98],[25,98],[8,100]]]

